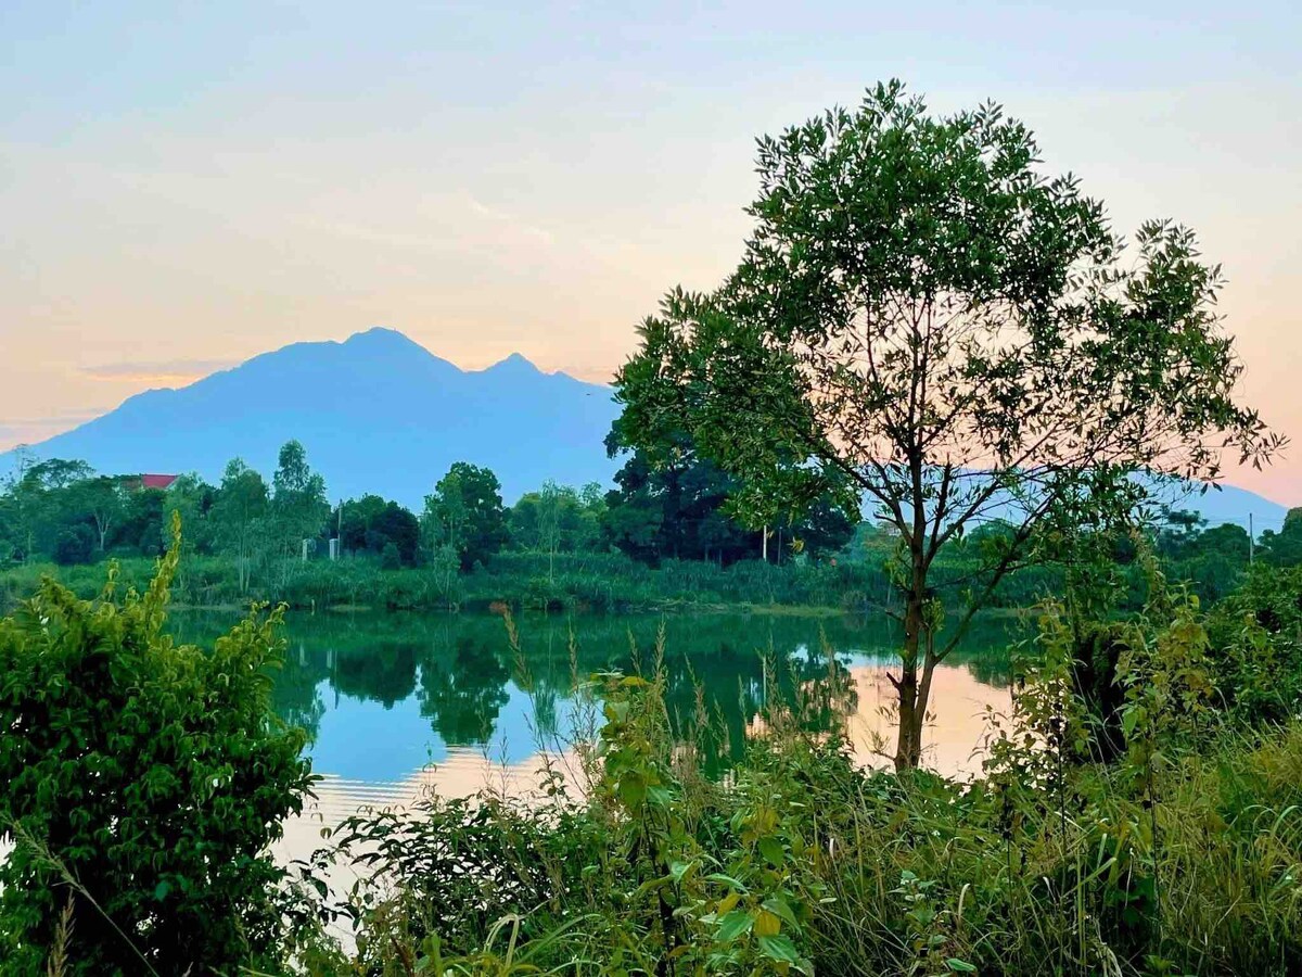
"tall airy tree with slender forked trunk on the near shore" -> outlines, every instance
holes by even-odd
[[[1047,520],[1113,524],[1141,469],[1215,479],[1223,447],[1260,465],[1281,443],[1233,399],[1221,277],[1193,233],[1152,221],[1125,250],[1038,163],[997,106],[935,117],[898,82],[760,139],[741,266],[672,292],[617,379],[634,440],[681,426],[753,516],[844,483],[900,533],[901,769],[936,664]],[[995,516],[1014,531],[939,641],[932,563]]]

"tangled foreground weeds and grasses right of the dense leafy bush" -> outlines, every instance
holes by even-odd
[[[671,726],[661,667],[598,673],[583,687],[595,739],[574,746],[582,796],[557,763],[527,802],[434,799],[336,835],[397,881],[352,894],[361,965],[1292,973],[1302,727],[1250,733],[1219,710],[1215,633],[1154,580],[1115,632],[1122,749],[1100,762],[1074,692],[1077,625],[1046,603],[971,783],[858,769],[835,729],[809,732],[820,703],[799,697],[713,780],[710,719]]]

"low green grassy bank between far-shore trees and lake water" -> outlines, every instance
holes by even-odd
[[[103,589],[105,564],[13,565],[0,571],[0,606],[30,594],[52,576],[89,599]],[[949,569],[956,578],[967,567]],[[117,561],[116,584],[143,590],[155,561]],[[941,578],[944,573],[940,573]],[[1004,585],[996,607],[1030,606],[1051,581],[1023,573]],[[384,569],[365,559],[280,560],[251,568],[241,591],[236,565],[223,558],[184,556],[172,585],[174,606],[240,608],[251,601],[296,610],[566,610],[740,611],[756,614],[862,612],[883,607],[892,588],[881,567],[863,561],[743,560],[728,567],[702,560],[664,560],[659,567],[622,554],[503,552],[469,573],[434,567]]]

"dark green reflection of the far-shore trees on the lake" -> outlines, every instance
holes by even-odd
[[[186,638],[212,637],[232,623],[212,614],[178,614],[174,620]],[[598,671],[629,671],[638,659],[651,668],[663,627],[671,722],[680,735],[695,733],[706,713],[704,761],[717,772],[745,748],[766,706],[799,698],[796,714],[810,732],[827,729],[836,716],[862,715],[859,698],[871,688],[865,670],[884,672],[898,646],[896,625],[884,616],[527,614],[517,627],[522,662],[513,660],[496,615],[292,614],[275,707],[311,733],[314,763],[324,774],[340,772],[331,756],[339,740],[371,748],[374,772],[366,779],[401,779],[419,767],[410,749],[397,749],[411,744],[391,739],[421,735],[411,722],[398,728],[368,714],[365,724],[354,720],[348,731],[327,735],[348,709],[423,718],[427,741],[418,745],[436,762],[456,748],[503,743],[501,756],[521,762],[539,741],[555,744],[572,733],[575,673],[582,680]],[[978,687],[1003,685],[1009,641],[1008,621],[987,621],[952,660]],[[527,690],[517,676],[521,663]],[[358,744],[357,736],[368,741]],[[400,762],[408,767],[395,766]]]

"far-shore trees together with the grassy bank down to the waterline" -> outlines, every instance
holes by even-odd
[[[613,438],[613,435],[612,435]],[[728,515],[734,491],[706,461],[655,469],[631,452],[616,488],[547,483],[503,504],[492,472],[458,462],[411,512],[379,495],[331,505],[302,446],[288,443],[268,481],[234,460],[219,485],[194,474],[167,488],[139,477],[105,477],[78,461],[31,464],[0,492],[0,599],[30,591],[49,564],[90,597],[112,556],[138,586],[163,551],[167,515],[186,528],[177,601],[234,606],[250,598],[292,607],[389,608],[487,606],[665,607],[783,603],[859,610],[891,606],[898,538],[889,526],[853,526],[827,499],[798,522],[760,531]],[[947,543],[935,586],[949,593],[979,580],[983,554],[1008,526],[992,521]],[[1302,563],[1302,511],[1254,547],[1237,525],[1206,526],[1169,511],[1144,534],[1167,572],[1216,601],[1241,580],[1250,559]],[[331,539],[341,559],[329,561]],[[1112,556],[1130,588],[1124,606],[1143,602],[1144,578],[1129,538]],[[85,567],[85,569],[79,569]],[[1061,561],[1027,565],[1000,581],[996,607],[1025,607],[1060,593]]]

